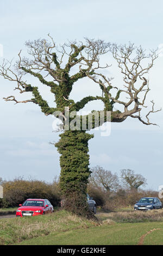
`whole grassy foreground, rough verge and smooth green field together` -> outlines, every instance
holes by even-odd
[[[163,245],[163,210],[118,211],[88,221],[62,210],[0,220],[1,245]]]

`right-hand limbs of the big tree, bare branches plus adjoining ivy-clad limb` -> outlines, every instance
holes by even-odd
[[[123,105],[124,112],[119,115],[121,120],[128,116],[138,118],[143,124],[151,125],[149,121],[149,114],[161,111],[161,109],[154,111],[154,102],[152,102],[152,110],[146,115],[147,121],[140,116],[142,107],[145,106],[147,93],[149,92],[149,80],[145,77],[154,64],[154,60],[158,57],[156,51],[152,50],[149,54],[141,46],[135,47],[134,44],[116,45],[111,44],[109,51],[118,63],[118,67],[123,74],[124,89],[112,86],[112,77],[108,78],[102,73],[94,72],[93,75],[88,75],[94,82],[98,83],[105,95],[108,95],[110,102],[119,103]],[[147,62],[146,62],[147,60]],[[144,67],[146,66],[146,67]],[[118,89],[119,88],[119,89]],[[110,89],[116,89],[116,96],[112,96]],[[139,96],[143,93],[143,96]],[[126,94],[126,101],[120,100],[120,94]],[[141,100],[140,100],[141,98]],[[134,115],[139,112],[139,115]],[[156,124],[153,124],[156,125]]]

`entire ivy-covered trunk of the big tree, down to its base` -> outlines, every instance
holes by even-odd
[[[65,131],[55,144],[60,153],[60,188],[64,206],[87,216],[86,187],[90,176],[88,141],[93,135],[85,131]]]

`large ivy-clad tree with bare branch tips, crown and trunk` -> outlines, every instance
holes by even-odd
[[[157,56],[155,51],[145,54],[141,47],[135,47],[134,44],[117,46],[110,44],[110,42],[105,43],[103,40],[93,39],[85,39],[85,44],[83,42],[70,42],[57,48],[53,38],[48,36],[50,42],[45,39],[26,42],[29,58],[22,57],[20,51],[15,65],[12,65],[12,62],[8,60],[3,61],[0,66],[0,75],[15,82],[17,84],[15,90],[20,94],[32,94],[26,100],[17,100],[13,95],[3,99],[14,101],[15,104],[34,103],[41,108],[45,115],[54,114],[61,120],[63,132],[59,135],[59,142],[55,143],[60,154],[60,188],[65,198],[68,198],[68,195],[72,195],[73,192],[83,198],[80,200],[81,205],[85,205],[87,212],[86,186],[91,173],[88,142],[89,139],[93,138],[93,135],[87,131],[101,126],[108,120],[120,123],[127,117],[139,119],[146,125],[152,124],[149,121],[149,114],[156,112],[153,101],[152,110],[147,113],[146,121],[143,120],[140,113],[142,107],[145,107],[146,96],[149,92],[148,79],[145,78],[145,75],[152,68]],[[124,89],[112,86],[112,78],[104,75],[109,65],[101,66],[100,58],[109,52],[117,61],[124,76]],[[146,68],[142,66],[144,59],[149,61]],[[38,86],[27,82],[29,75],[36,77],[42,85],[51,90],[54,95],[54,106],[49,106],[40,94]],[[70,99],[73,84],[83,78],[89,78],[98,84],[102,90],[102,95],[86,96],[78,102]],[[137,84],[135,84],[136,82]],[[121,99],[123,94],[128,96],[126,101]],[[74,111],[77,113],[87,103],[96,100],[103,102],[104,111],[97,111],[97,114],[103,115],[103,121],[96,121],[96,118],[92,117],[92,113],[76,114],[74,121]],[[115,104],[120,105],[119,110],[114,109]],[[110,119],[108,119],[108,112],[111,114]],[[139,113],[139,115],[134,115],[135,113]],[[89,125],[91,118],[92,123]],[[71,121],[72,124],[76,124],[76,127],[69,125]],[[69,197],[68,200],[73,199]],[[77,206],[76,211],[78,208]]]

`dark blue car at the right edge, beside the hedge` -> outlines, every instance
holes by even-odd
[[[152,210],[162,209],[162,203],[157,197],[142,197],[139,202],[134,205],[134,210]]]

